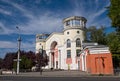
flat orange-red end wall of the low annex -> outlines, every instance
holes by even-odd
[[[88,54],[87,71],[91,74],[113,74],[111,54]]]

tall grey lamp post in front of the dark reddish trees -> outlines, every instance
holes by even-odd
[[[18,31],[19,31],[19,33],[18,33],[18,55],[17,55],[17,73],[16,74],[19,74],[19,64],[20,64],[20,45],[21,45],[21,37],[20,37],[20,29],[19,29],[19,27],[16,27],[17,29],[18,29]]]

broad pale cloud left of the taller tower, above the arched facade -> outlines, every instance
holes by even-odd
[[[21,25],[21,30],[26,34],[38,34],[44,32],[53,32],[61,30],[62,20],[56,16],[49,16],[44,14],[38,18],[34,17],[27,25]]]

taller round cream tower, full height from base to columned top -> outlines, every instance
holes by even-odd
[[[72,16],[63,20],[64,48],[68,69],[76,70],[80,68],[79,56],[85,38],[86,22],[87,20],[80,16]]]

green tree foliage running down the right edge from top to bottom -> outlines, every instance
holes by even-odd
[[[114,67],[120,67],[120,0],[110,0],[110,2],[108,16],[112,26],[116,28],[116,33],[109,34],[107,42],[113,53]]]

